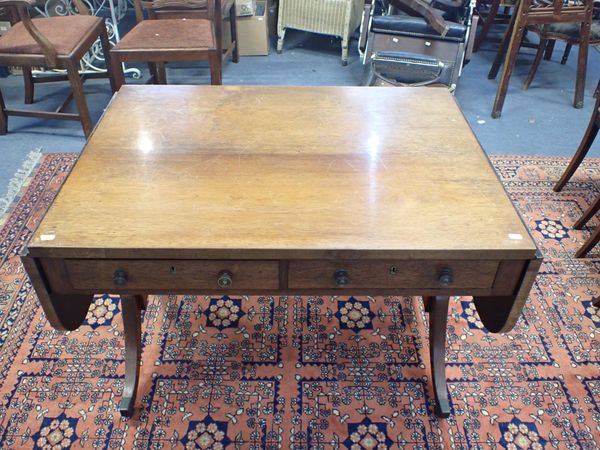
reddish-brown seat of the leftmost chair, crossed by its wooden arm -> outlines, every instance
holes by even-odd
[[[71,54],[85,37],[102,22],[94,16],[57,16],[32,20],[61,56]],[[43,55],[42,48],[31,37],[22,22],[17,22],[0,37],[0,53]]]

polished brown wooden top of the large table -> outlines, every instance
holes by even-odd
[[[446,89],[123,86],[32,256],[532,258]]]

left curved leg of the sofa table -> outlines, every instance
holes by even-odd
[[[145,297],[141,295],[121,296],[125,332],[125,386],[119,411],[123,417],[131,417],[135,405],[142,355],[141,311],[144,305]]]

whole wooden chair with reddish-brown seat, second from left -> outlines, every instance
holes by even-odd
[[[148,20],[144,20],[144,11]],[[135,0],[137,25],[110,51],[117,89],[124,62],[146,62],[151,80],[166,84],[167,61],[208,60],[211,84],[221,84],[223,59],[239,61],[234,0]],[[223,13],[229,15],[231,45],[223,50]]]

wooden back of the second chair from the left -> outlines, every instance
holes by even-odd
[[[221,20],[221,0],[135,0],[138,22],[144,19],[209,19]]]

